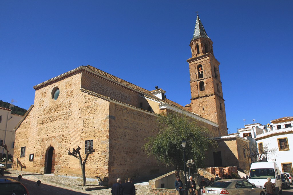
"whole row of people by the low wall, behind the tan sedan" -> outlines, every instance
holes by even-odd
[[[231,179],[231,178],[232,177],[228,173],[223,175],[223,179]],[[202,178],[202,181],[200,182],[200,185],[199,185],[201,195],[202,195],[202,191],[205,187],[207,187],[208,185],[214,183],[215,181],[221,180],[221,179],[222,178],[220,178],[218,174],[216,174],[215,178],[212,177],[210,182],[207,182],[207,181],[205,181],[204,178]],[[180,180],[180,177],[176,177],[175,188],[179,192],[179,195],[183,195],[184,186],[183,186],[182,181]],[[198,195],[198,191],[196,190],[196,184],[195,184],[195,181],[193,180],[192,176],[189,177],[189,180],[187,182],[187,188],[188,188],[190,195]]]

